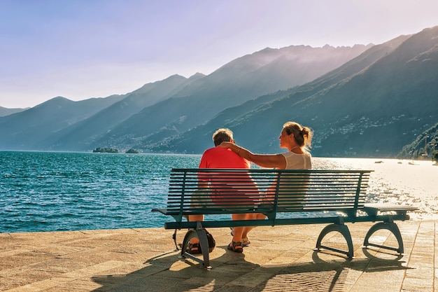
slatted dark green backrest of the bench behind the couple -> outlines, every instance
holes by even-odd
[[[265,214],[343,211],[365,204],[369,170],[172,169],[167,211]]]

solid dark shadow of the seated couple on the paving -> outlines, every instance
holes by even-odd
[[[227,246],[216,246],[210,253],[211,270],[193,260],[179,258],[180,253],[175,250],[149,258],[145,267],[126,275],[93,277],[101,285],[94,291],[216,291],[260,267],[246,261],[244,253],[228,251]]]

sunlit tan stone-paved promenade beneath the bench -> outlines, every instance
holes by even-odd
[[[212,229],[210,271],[178,259],[162,228],[1,233],[0,291],[438,291],[436,222],[397,224],[404,256],[362,250],[372,223],[349,224],[353,260],[313,251],[324,225],[255,228],[240,254],[226,249],[229,229]],[[387,230],[374,240],[395,242]]]

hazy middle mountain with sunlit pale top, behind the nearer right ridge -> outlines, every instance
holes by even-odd
[[[95,145],[145,148],[147,144],[158,143],[206,123],[230,106],[311,81],[370,47],[372,45],[353,48],[290,46],[276,50],[266,48],[240,57],[209,76],[199,78],[173,97],[146,107],[96,139]]]

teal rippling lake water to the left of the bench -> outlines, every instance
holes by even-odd
[[[170,169],[200,158],[0,151],[0,232],[162,227],[150,210],[163,207]]]

